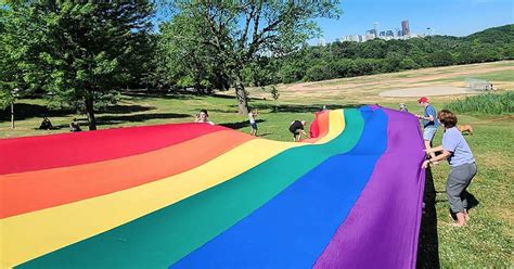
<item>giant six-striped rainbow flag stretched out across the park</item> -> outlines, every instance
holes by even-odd
[[[0,265],[415,267],[417,119],[330,111],[316,133],[172,124],[0,140]]]

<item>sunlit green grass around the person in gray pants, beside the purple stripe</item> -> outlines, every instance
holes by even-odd
[[[440,105],[436,105],[440,106]],[[513,209],[514,117],[458,114],[459,123],[471,124],[474,136],[466,136],[478,165],[470,185],[479,204],[470,210],[470,225],[448,226],[445,191],[447,164],[434,168],[438,245],[441,266],[447,268],[507,268],[514,266]],[[435,141],[440,144],[439,130]]]

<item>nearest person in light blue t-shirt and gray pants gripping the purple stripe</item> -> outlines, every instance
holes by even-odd
[[[477,172],[475,158],[462,133],[457,129],[457,116],[448,110],[437,114],[437,118],[445,128],[442,145],[427,149],[427,153],[441,152],[436,157],[423,162],[422,167],[427,168],[442,159],[448,159],[450,174],[446,183],[446,192],[450,204],[450,213],[457,218],[453,226],[462,227],[467,223],[467,187]]]

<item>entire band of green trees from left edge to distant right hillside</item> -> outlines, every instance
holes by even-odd
[[[334,42],[309,47],[312,18],[337,1],[4,1],[0,4],[0,106],[41,94],[52,108],[87,114],[133,87],[245,87],[514,59],[514,25],[465,38]],[[156,11],[169,17],[154,25]],[[160,14],[164,12],[159,12]],[[156,30],[158,29],[158,30]]]

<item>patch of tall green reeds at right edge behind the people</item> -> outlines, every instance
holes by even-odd
[[[447,107],[460,113],[514,113],[514,91],[466,97],[449,103]]]

